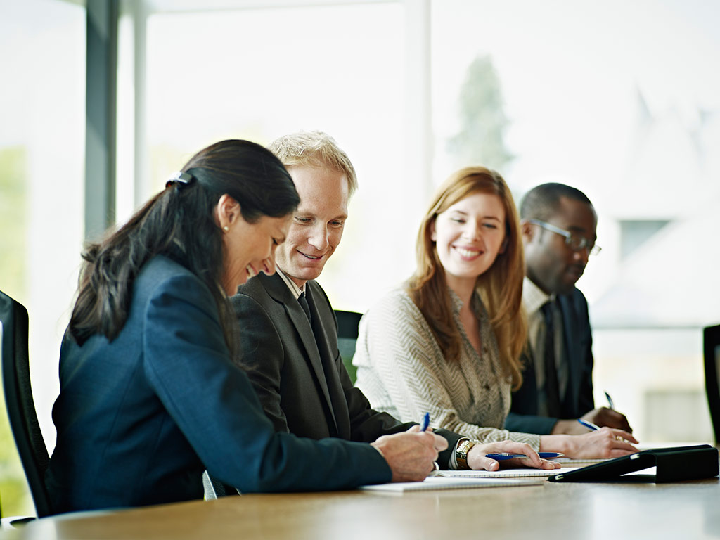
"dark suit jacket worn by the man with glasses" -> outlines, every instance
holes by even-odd
[[[569,362],[567,392],[560,404],[561,418],[580,418],[595,407],[593,400],[593,335],[590,330],[588,301],[578,289],[557,297],[562,312],[565,350]],[[505,428],[510,431],[546,434],[557,418],[538,416],[535,366],[528,353],[523,355],[523,386],[513,392]]]

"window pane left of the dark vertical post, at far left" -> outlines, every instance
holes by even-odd
[[[0,289],[30,314],[32,387],[52,450],[58,351],[83,237],[85,10],[3,1],[0,54]],[[3,513],[32,513],[4,407],[0,417]]]

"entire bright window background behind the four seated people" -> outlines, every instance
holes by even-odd
[[[711,440],[701,328],[720,322],[720,4],[135,0],[122,12],[119,220],[216,140],[323,130],[360,189],[320,283],[361,312],[413,271],[420,215],[455,168],[498,168],[518,202],[543,181],[572,184],[600,217],[603,252],[578,284],[596,400],[610,392],[641,440]],[[82,2],[0,0],[0,289],[30,311],[50,449],[84,230],[85,28]],[[17,480],[4,513],[32,513],[4,433],[1,476]]]

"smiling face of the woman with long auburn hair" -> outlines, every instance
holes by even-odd
[[[504,251],[503,202],[495,194],[469,194],[438,214],[431,225],[431,240],[450,288],[460,296],[461,291],[472,291],[477,276]]]

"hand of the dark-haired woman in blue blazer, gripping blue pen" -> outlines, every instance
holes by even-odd
[[[420,426],[413,426],[405,433],[383,435],[371,445],[390,465],[392,482],[411,482],[425,480],[448,441],[430,429],[420,431]]]

